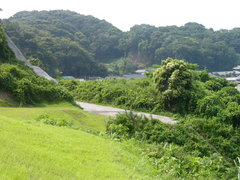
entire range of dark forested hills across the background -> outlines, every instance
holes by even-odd
[[[102,63],[120,58],[148,66],[172,57],[209,71],[230,70],[240,62],[240,28],[143,24],[122,32],[105,20],[63,10],[19,12],[4,23],[23,53],[41,59],[53,75],[105,76]]]

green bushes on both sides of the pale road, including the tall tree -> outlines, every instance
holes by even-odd
[[[174,126],[133,114],[119,115],[108,123],[107,132],[113,138],[157,144],[154,152],[146,153],[160,174],[171,167],[170,177],[234,179],[234,160],[240,156],[240,92],[235,84],[196,68],[169,58],[145,79],[60,83],[82,101],[180,113],[181,121]]]

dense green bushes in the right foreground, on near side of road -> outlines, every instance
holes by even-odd
[[[109,121],[113,138],[134,138],[162,176],[176,179],[237,179],[239,129],[218,120],[189,117],[172,126],[121,114]]]

